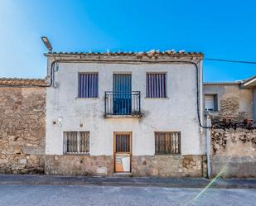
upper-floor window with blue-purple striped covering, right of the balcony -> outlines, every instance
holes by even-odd
[[[166,98],[167,97],[166,73],[147,73],[146,97]]]

